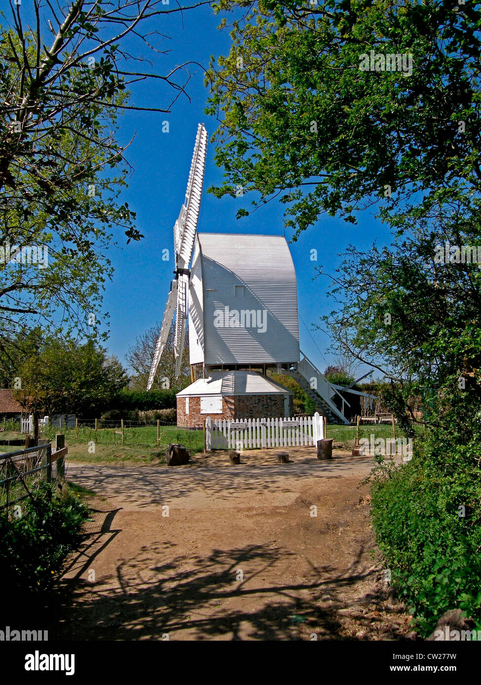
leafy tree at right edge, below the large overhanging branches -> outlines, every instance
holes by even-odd
[[[325,321],[338,345],[386,377],[401,421],[414,421],[409,398],[421,396],[428,423],[469,441],[481,403],[481,272],[466,248],[481,225],[464,206],[433,218],[437,228],[411,225],[390,247],[350,247],[330,291],[342,306]]]

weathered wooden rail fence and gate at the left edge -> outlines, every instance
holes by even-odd
[[[65,455],[68,452],[68,448],[65,447],[65,436],[58,434],[55,451],[52,451],[51,447],[51,443],[46,442],[43,445],[0,455],[0,511],[5,509],[8,516],[10,507],[27,497],[35,503],[32,488],[40,481],[52,481],[54,464],[55,479],[64,479]],[[34,474],[38,474],[38,477],[32,478]],[[11,494],[14,499],[11,499]]]

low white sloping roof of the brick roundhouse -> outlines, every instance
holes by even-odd
[[[291,391],[257,371],[211,371],[208,378],[199,378],[176,397],[204,395],[278,395]]]

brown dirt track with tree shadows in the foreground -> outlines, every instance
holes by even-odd
[[[175,468],[69,463],[67,478],[106,501],[93,501],[52,638],[406,637],[370,554],[368,488],[357,489],[371,460],[290,454],[285,466],[272,451],[241,466],[224,455]]]

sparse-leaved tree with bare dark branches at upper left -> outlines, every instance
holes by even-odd
[[[166,75],[137,63],[144,49],[161,53],[155,21],[188,8],[162,0],[9,4],[0,15],[0,340],[39,316],[51,331],[95,337],[107,318],[101,292],[113,234],[142,237],[119,200],[131,169],[117,116],[167,113],[185,94],[187,63]],[[129,84],[154,80],[172,89],[165,107],[131,101]]]

